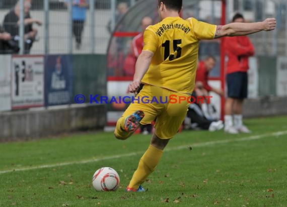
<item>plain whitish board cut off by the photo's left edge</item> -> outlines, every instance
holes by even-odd
[[[11,55],[0,55],[0,111],[11,110]]]

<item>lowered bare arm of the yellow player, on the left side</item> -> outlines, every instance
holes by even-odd
[[[150,64],[152,62],[152,58],[154,53],[149,50],[142,50],[140,55],[137,58],[135,64],[135,73],[133,76],[133,81],[128,86],[128,91],[131,93],[137,94],[137,89],[140,85],[140,81],[143,75],[148,71]]]

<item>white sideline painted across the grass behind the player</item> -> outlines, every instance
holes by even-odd
[[[226,139],[226,140],[218,140],[218,141],[210,141],[210,142],[203,142],[203,143],[195,143],[192,145],[192,147],[204,147],[204,146],[212,146],[217,144],[225,144],[230,142],[244,142],[249,140],[257,140],[262,139],[264,137],[274,137],[274,136],[281,136],[287,134],[287,131],[280,131],[280,132],[274,132],[269,134],[262,134],[262,135],[255,135],[250,137],[243,137],[239,139]],[[175,150],[181,150],[181,149],[187,149],[188,146],[178,146],[178,147],[172,147],[167,148],[165,151],[175,151]],[[65,166],[65,165],[73,165],[73,164],[85,164],[85,163],[91,163],[91,162],[98,162],[102,160],[110,160],[110,159],[117,159],[122,157],[130,157],[133,155],[143,154],[144,152],[132,152],[128,154],[120,154],[120,155],[114,155],[114,156],[107,156],[107,157],[101,157],[97,159],[88,159],[88,160],[81,160],[76,162],[62,162],[62,163],[56,163],[56,164],[49,164],[49,165],[38,165],[38,166],[32,166],[32,167],[21,167],[21,168],[15,168],[11,170],[3,170],[0,171],[0,174],[8,173],[8,172],[14,172],[14,171],[26,171],[26,170],[34,170],[34,169],[42,169],[42,168],[52,168],[52,167],[59,167],[59,166]]]

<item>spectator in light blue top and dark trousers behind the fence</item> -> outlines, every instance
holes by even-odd
[[[67,6],[66,0],[65,5]],[[84,31],[86,21],[86,10],[89,6],[88,0],[73,0],[72,19],[73,34],[76,38],[76,48],[79,50],[82,45],[82,33]]]

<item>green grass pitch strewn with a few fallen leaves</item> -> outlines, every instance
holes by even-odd
[[[286,123],[246,120],[252,134],[179,133],[143,193],[125,186],[150,136],[119,141],[97,132],[0,143],[0,206],[287,206]],[[115,192],[93,189],[93,173],[104,166],[120,175]]]

